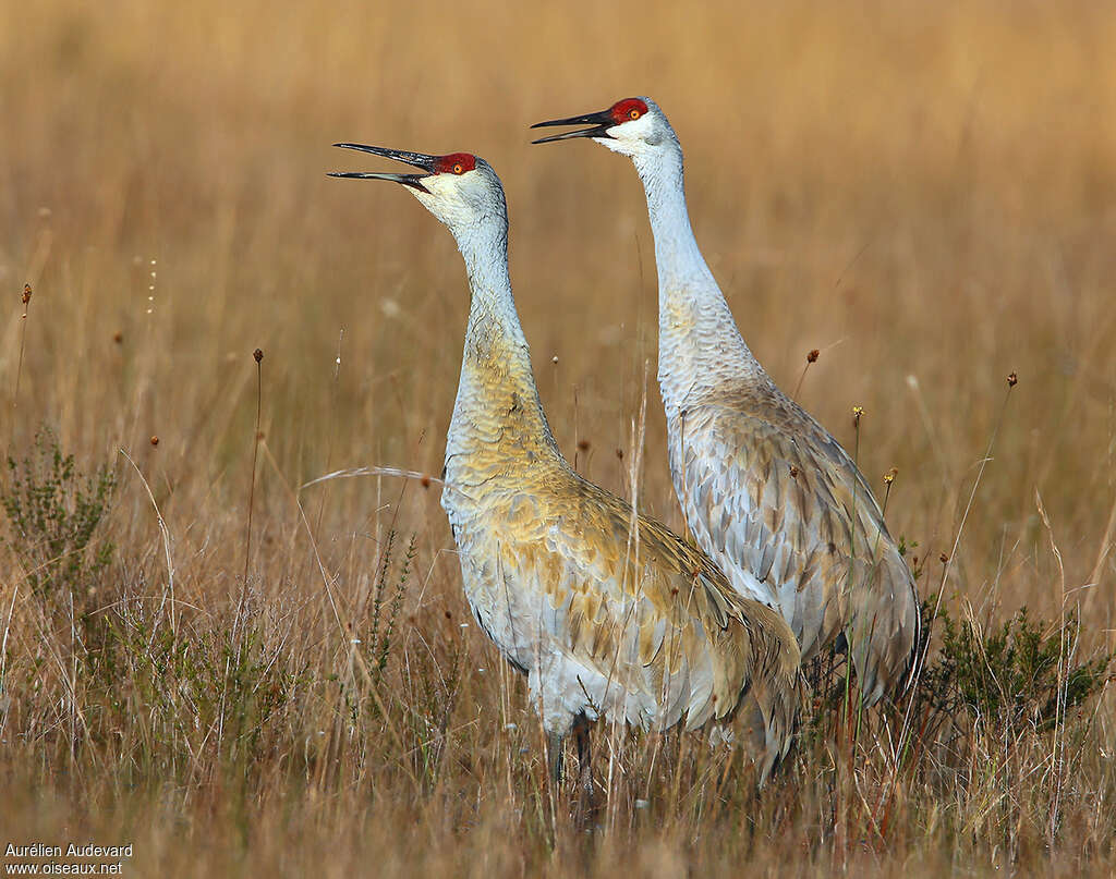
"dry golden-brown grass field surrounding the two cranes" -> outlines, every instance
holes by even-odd
[[[1084,1],[0,6],[0,453],[30,462],[0,493],[41,513],[0,515],[0,846],[133,843],[125,876],[1112,875],[1116,696],[1066,702],[1116,646],[1114,45]],[[437,485],[304,485],[436,476],[468,308],[449,233],[327,178],[381,167],[329,145],[469,151],[560,445],[624,495],[638,462],[682,529],[637,178],[528,146],[632,94],[761,361],[791,389],[819,349],[798,398],[881,496],[898,469],[891,530],[987,692],[819,699],[758,799],[696,735],[599,730],[585,834]],[[1024,606],[1052,722],[998,675]]]

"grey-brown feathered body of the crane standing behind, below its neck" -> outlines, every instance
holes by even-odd
[[[915,646],[914,581],[863,475],[786,403],[778,425],[735,399],[689,408],[675,487],[698,543],[738,591],[783,609],[805,658],[841,630],[863,632],[854,659],[875,701]]]

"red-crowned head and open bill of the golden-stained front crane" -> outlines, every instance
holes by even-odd
[[[401,183],[423,203],[427,211],[445,223],[459,240],[459,232],[474,230],[491,221],[502,224],[507,231],[508,207],[503,199],[503,187],[492,166],[480,156],[471,153],[430,156],[424,153],[407,153],[364,144],[334,144],[334,146],[359,149],[362,153],[394,158],[421,168],[421,174],[331,171],[329,176]]]

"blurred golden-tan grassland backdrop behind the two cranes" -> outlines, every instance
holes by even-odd
[[[1113,46],[1112,7],[1084,0],[4,2],[0,443],[20,458],[47,425],[116,466],[108,533],[154,581],[142,473],[180,596],[234,606],[259,378],[261,592],[320,595],[312,533],[344,602],[387,510],[429,587],[408,607],[464,612],[436,486],[299,486],[441,471],[468,309],[450,234],[398,187],[328,178],[388,170],[330,144],[468,151],[507,190],[562,450],[628,496],[637,460],[641,503],[681,529],[638,180],[528,131],[650,95],[744,338],[788,392],[819,349],[799,402],[881,498],[898,469],[886,515],[922,591],[968,508],[950,601],[1057,616],[1069,595],[1112,645]]]

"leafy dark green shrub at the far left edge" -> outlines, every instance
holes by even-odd
[[[8,457],[8,470],[10,485],[0,505],[11,537],[0,540],[20,559],[31,591],[48,597],[87,592],[113,557],[110,542],[90,545],[116,486],[113,470],[103,465],[84,477],[48,428],[36,434],[22,463]]]

